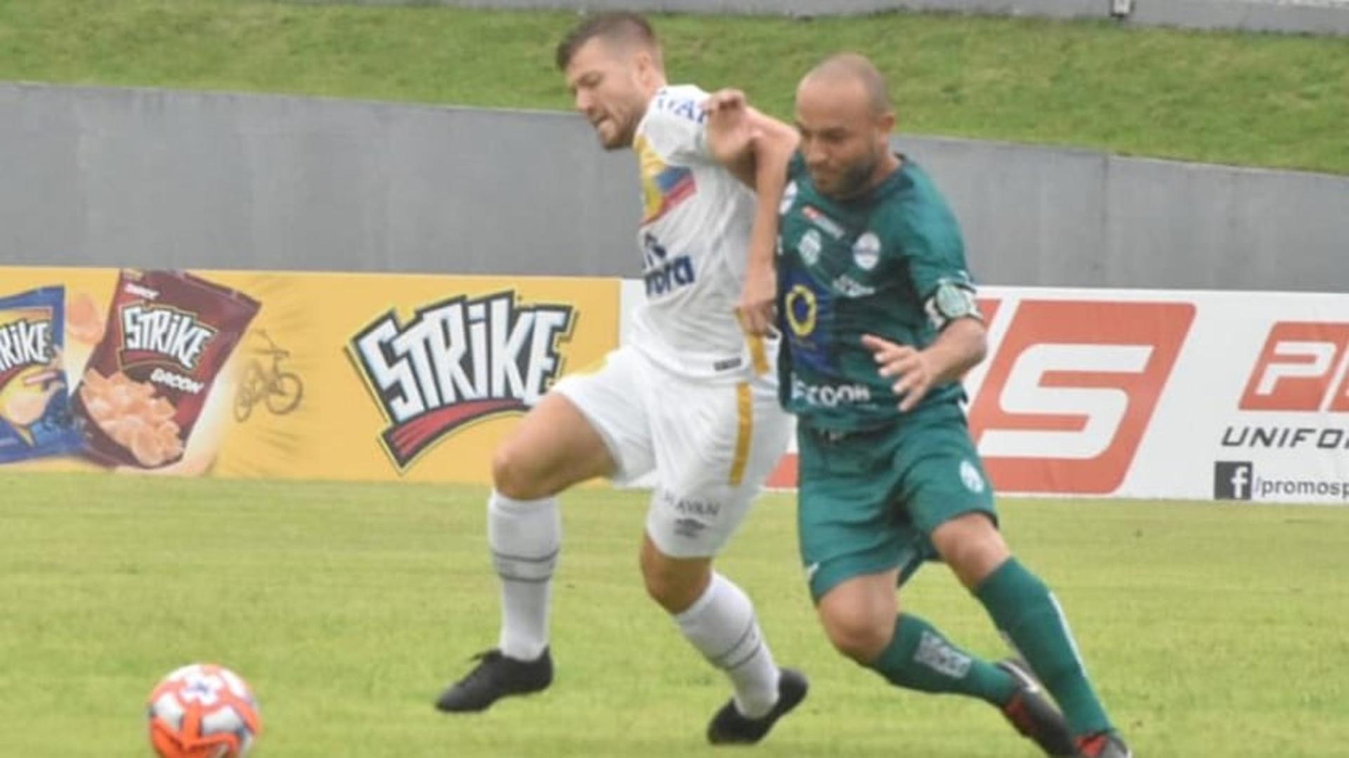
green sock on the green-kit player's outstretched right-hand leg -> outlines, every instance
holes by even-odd
[[[1009,558],[974,595],[1054,695],[1074,735],[1112,728],[1078,655],[1068,619],[1037,576]]]

